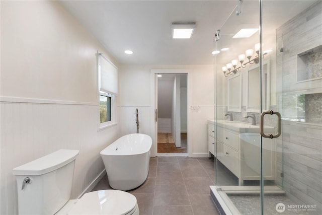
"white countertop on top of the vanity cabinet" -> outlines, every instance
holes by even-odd
[[[242,132],[260,132],[260,126],[259,125],[252,125],[245,122],[240,121],[228,121],[224,119],[217,119],[217,120],[209,120],[215,123],[217,121],[218,126],[238,131],[240,133]],[[264,126],[264,132],[273,132],[275,129],[274,127],[270,126]]]

